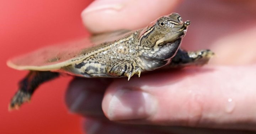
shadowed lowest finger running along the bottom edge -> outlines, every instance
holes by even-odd
[[[83,121],[86,134],[245,134],[244,130],[225,130],[191,127],[170,127],[153,125],[121,124],[103,121],[95,118],[86,118]],[[253,132],[252,132],[253,133]]]

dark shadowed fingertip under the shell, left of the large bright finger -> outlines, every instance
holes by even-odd
[[[75,78],[70,82],[65,95],[68,109],[83,116],[104,116],[101,101],[110,82],[110,79]]]

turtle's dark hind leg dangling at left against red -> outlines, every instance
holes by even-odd
[[[19,83],[19,89],[12,97],[9,110],[18,109],[23,103],[29,102],[36,88],[43,82],[59,76],[58,72],[30,71]]]

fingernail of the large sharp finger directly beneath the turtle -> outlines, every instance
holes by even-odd
[[[158,101],[153,95],[130,89],[120,89],[111,98],[107,116],[110,120],[148,118],[156,112]]]

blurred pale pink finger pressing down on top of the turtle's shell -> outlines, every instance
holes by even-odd
[[[145,27],[156,18],[170,14],[178,0],[95,0],[81,14],[93,33]]]

